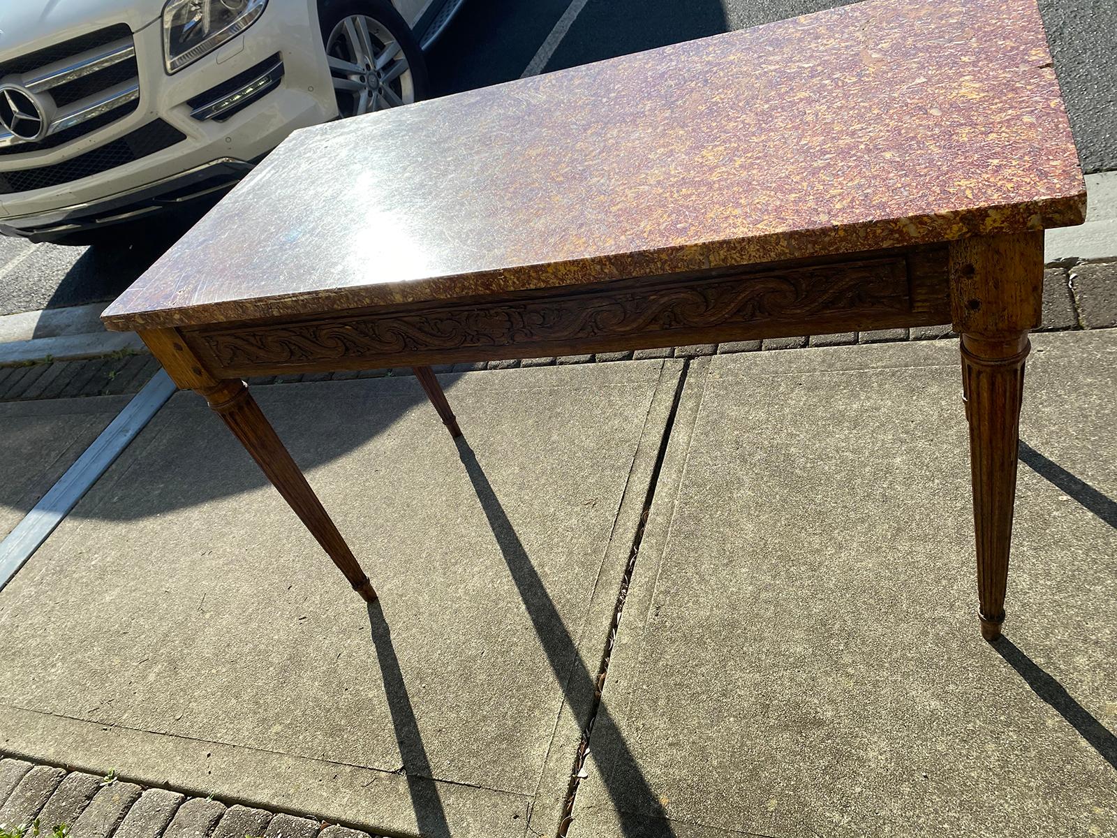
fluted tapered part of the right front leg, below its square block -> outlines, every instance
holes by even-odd
[[[1024,392],[1028,335],[982,340],[962,336],[962,381],[970,422],[977,597],[981,634],[1001,636],[1009,579],[1012,511],[1016,496],[1016,448]]]

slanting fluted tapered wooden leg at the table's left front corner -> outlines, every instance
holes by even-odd
[[[370,584],[369,577],[361,570],[345,540],[337,532],[337,527],[330,520],[330,515],[326,514],[290,454],[279,441],[279,437],[248,392],[245,382],[226,380],[214,387],[198,388],[197,391],[206,397],[210,408],[221,417],[233,436],[252,455],[252,459],[271,480],[271,485],[278,489],[322,549],[334,560],[334,564],[345,574],[353,590],[360,593],[365,602],[374,602],[376,592]]]

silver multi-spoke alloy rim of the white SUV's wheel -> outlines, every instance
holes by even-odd
[[[414,79],[403,47],[375,18],[342,18],[326,40],[326,60],[342,116],[416,101]]]

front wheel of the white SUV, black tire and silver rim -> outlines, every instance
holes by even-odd
[[[323,0],[318,19],[343,117],[427,96],[422,50],[388,0]]]

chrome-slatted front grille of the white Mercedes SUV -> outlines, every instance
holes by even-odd
[[[68,143],[140,105],[132,30],[120,23],[0,63],[2,84],[17,85],[39,102],[52,104],[54,116],[38,140],[0,127],[0,155]]]

